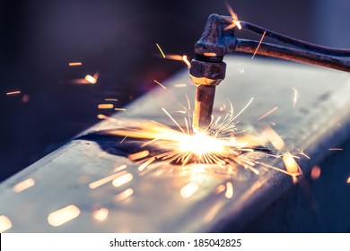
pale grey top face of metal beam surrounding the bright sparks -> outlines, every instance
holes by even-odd
[[[292,153],[297,147],[311,157],[311,160],[297,160],[304,174],[330,153],[329,148],[337,147],[348,137],[348,74],[243,57],[227,57],[226,62],[227,77],[216,90],[214,116],[224,115],[220,107],[227,104],[227,99],[232,100],[237,113],[254,97],[238,118],[241,126],[258,128],[265,123],[275,123],[276,132]],[[5,180],[0,185],[0,215],[12,222],[12,228],[7,231],[202,232],[220,231],[227,224],[231,230],[240,231],[284,195],[293,186],[292,177],[262,167],[256,175],[247,169],[226,174],[215,166],[204,169],[197,165],[166,165],[141,176],[137,170],[139,164],[126,157],[132,153],[130,144],[120,143],[120,138],[108,133],[96,136],[96,132],[126,125],[130,119],[135,123],[153,119],[172,126],[162,108],[183,121],[182,115],[175,111],[186,106],[186,95],[191,97],[196,89],[190,84],[182,88],[175,85],[184,82],[190,82],[188,71],[166,82],[166,90],[159,88],[136,100],[126,112],[93,126],[83,136]],[[300,94],[295,107],[292,87]],[[278,107],[275,113],[257,121],[275,107]],[[266,161],[284,169],[281,159]],[[112,186],[111,181],[95,189],[89,187],[92,182],[112,175],[122,165],[127,165],[127,172],[134,177],[132,181],[119,187]],[[34,186],[22,192],[13,190],[28,178],[35,181]],[[234,191],[230,199],[217,192],[217,187],[228,181],[232,182]],[[196,182],[198,189],[184,198],[180,195],[181,188],[191,182]],[[127,189],[132,189],[133,194],[120,201],[120,194]],[[51,212],[71,204],[80,210],[74,220],[59,227],[48,223]],[[93,217],[93,212],[100,208],[109,210],[105,221]]]

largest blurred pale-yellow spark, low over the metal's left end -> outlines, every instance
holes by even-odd
[[[68,221],[74,220],[80,214],[80,210],[74,204],[68,205],[56,212],[48,214],[48,223],[53,227],[59,227]]]

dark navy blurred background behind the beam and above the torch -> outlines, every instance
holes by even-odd
[[[349,48],[350,1],[229,1],[241,20],[297,39]],[[210,13],[223,1],[2,0],[0,2],[0,181],[184,67]],[[81,66],[68,66],[82,62]],[[71,80],[100,73],[96,84]],[[10,91],[20,94],[6,95]],[[110,112],[103,110],[104,114]]]

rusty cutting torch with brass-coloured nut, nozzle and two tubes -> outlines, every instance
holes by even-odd
[[[232,25],[232,17],[211,14],[202,37],[195,45],[196,58],[191,62],[190,75],[197,86],[193,114],[194,131],[206,130],[211,123],[215,87],[225,77],[226,65],[223,56],[233,52],[257,53],[291,61],[320,65],[350,72],[350,61],[341,57],[350,56],[350,50],[326,48],[299,39],[293,39],[249,22],[240,22],[243,30],[261,34],[269,39],[292,47],[284,47],[254,40],[237,39],[234,30],[224,28]],[[258,49],[257,49],[258,48]]]

